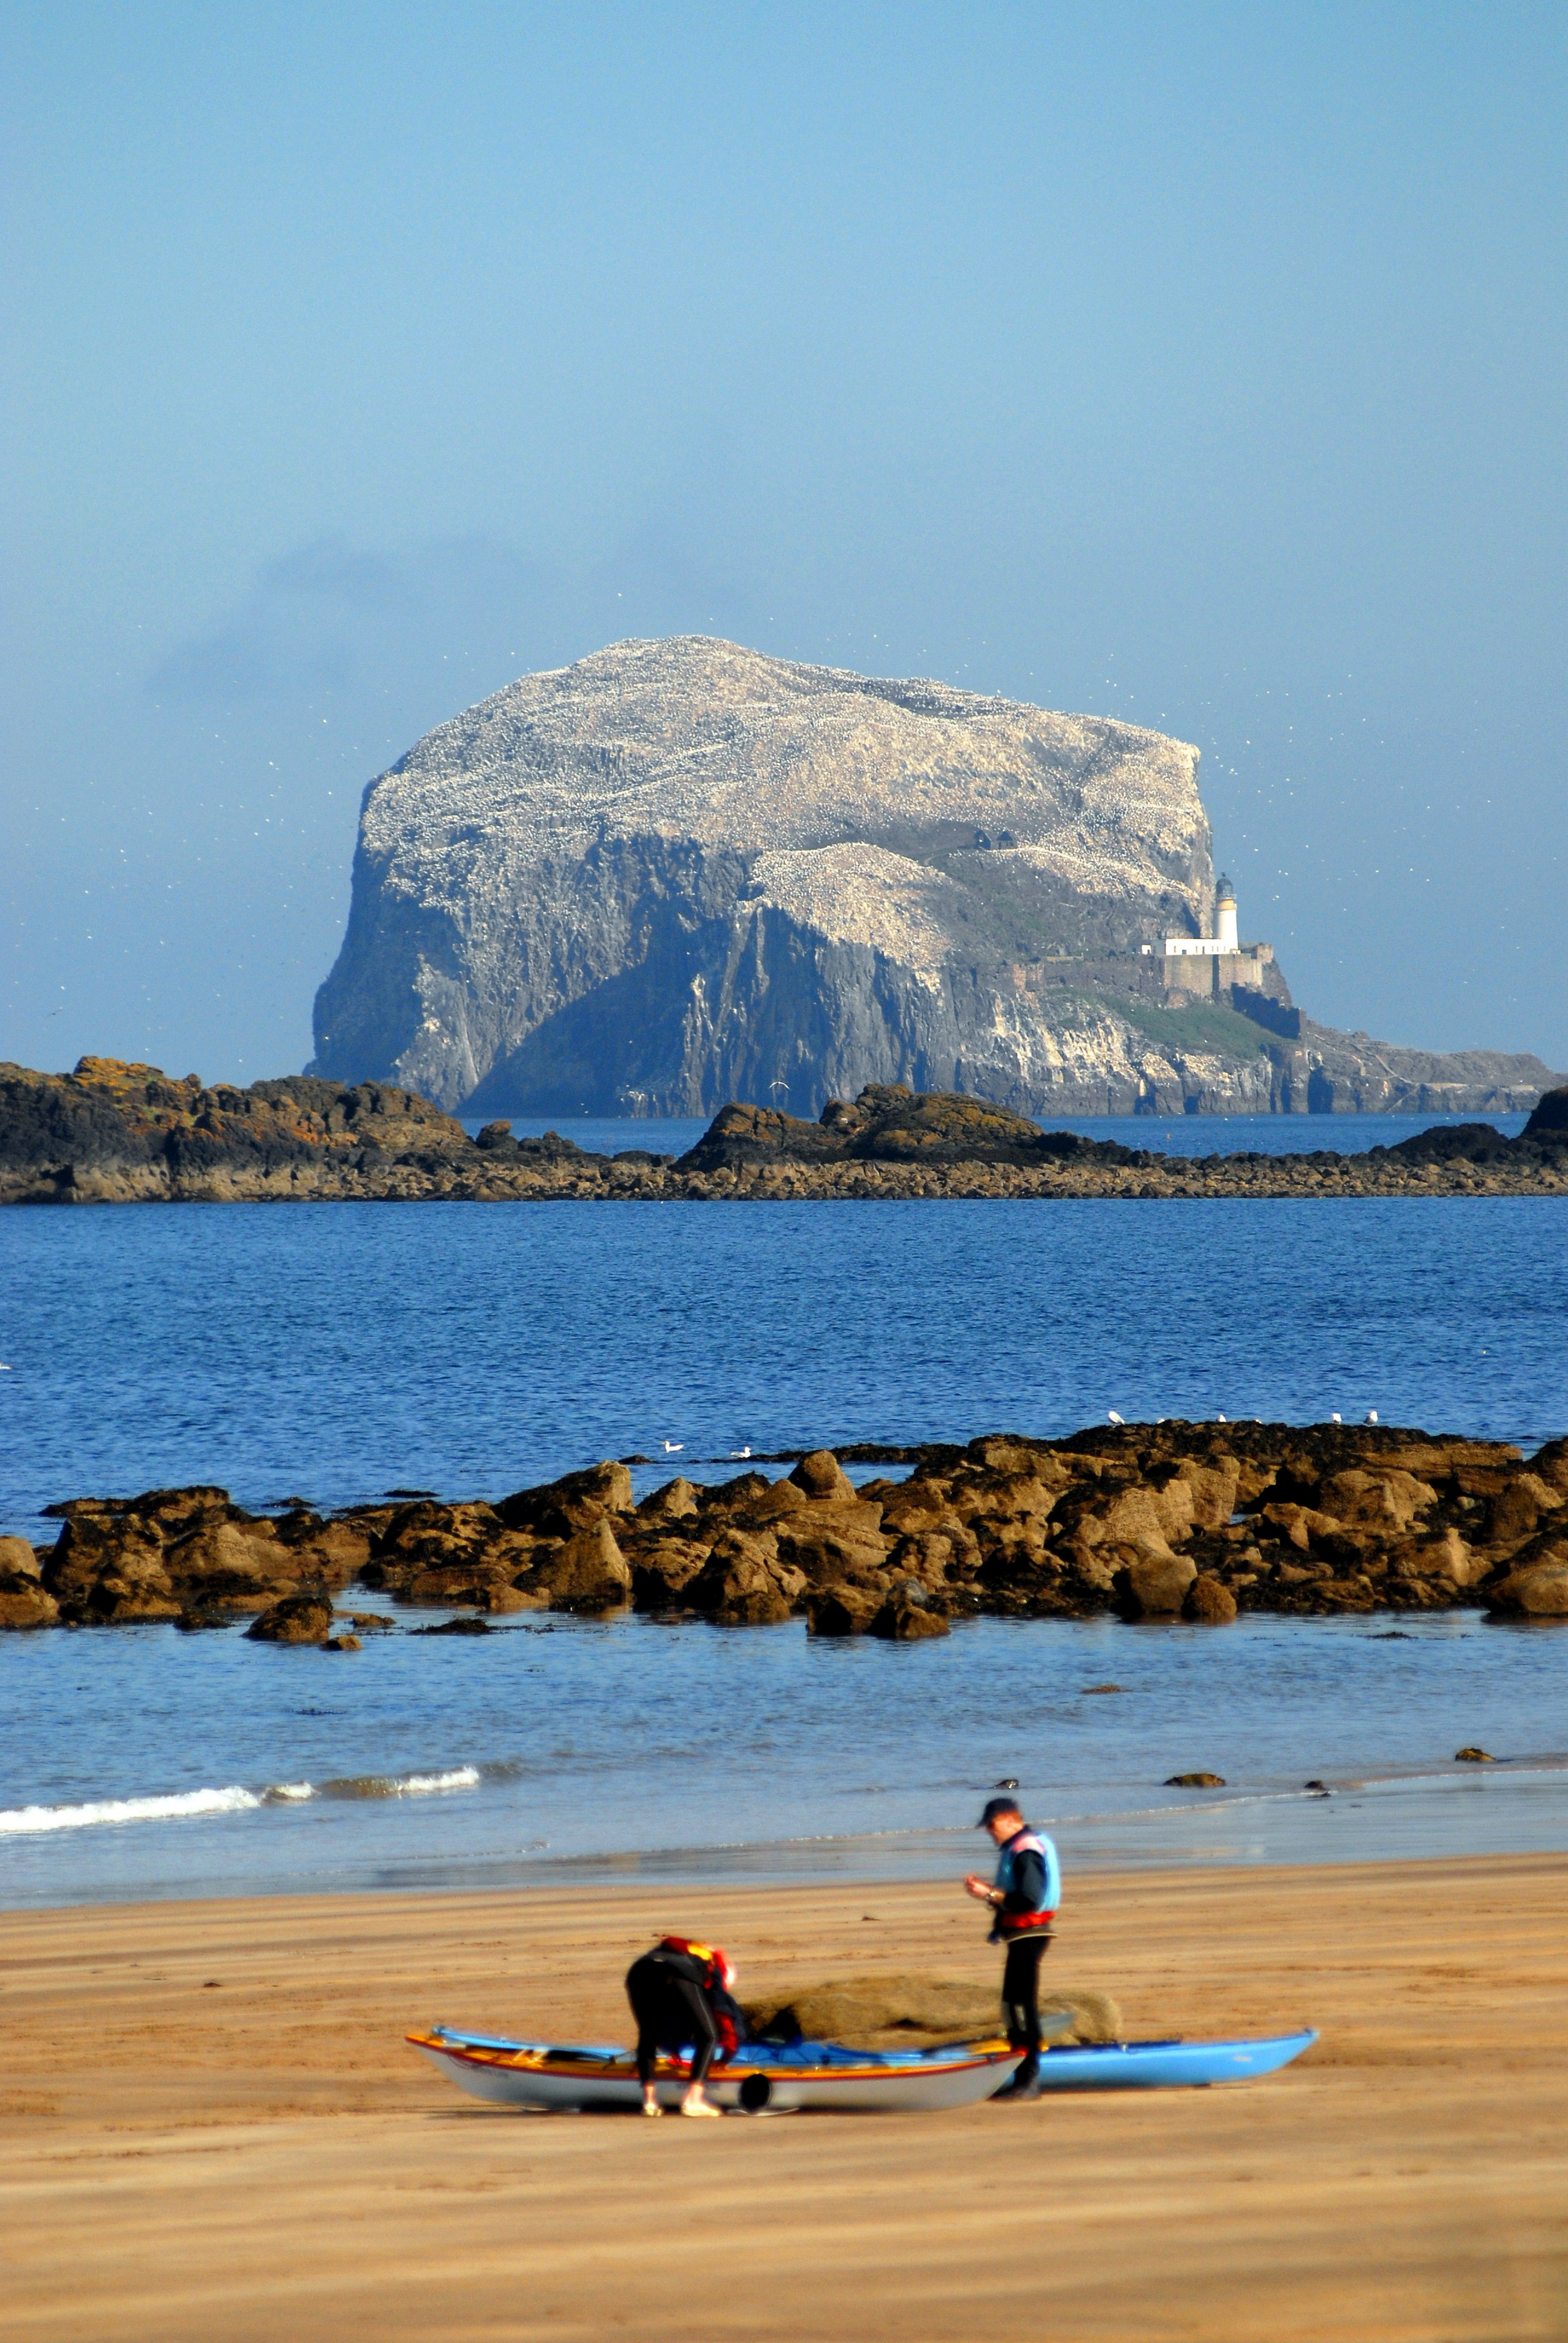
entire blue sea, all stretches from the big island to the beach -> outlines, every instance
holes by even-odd
[[[1430,1120],[1071,1127],[1263,1153]],[[701,1134],[555,1127],[607,1153]],[[192,1481],[340,1507],[640,1457],[642,1492],[745,1450],[1373,1408],[1526,1450],[1568,1432],[1568,1204],[0,1214],[0,1530],[35,1542],[54,1500]],[[0,1635],[0,1905],[663,1879],[689,1910],[710,1879],[961,1874],[1010,1778],[1069,1872],[1568,1849],[1568,1624],[980,1619],[872,1645],[527,1614],[424,1640],[443,1614],[340,1600],[396,1631],[356,1654]],[[1170,1788],[1200,1769],[1223,1788]]]

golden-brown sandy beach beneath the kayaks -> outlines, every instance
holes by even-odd
[[[1045,1980],[1132,2034],[1322,2029],[1233,2090],[652,2125],[488,2109],[403,2048],[619,2038],[661,1928],[748,1992],[998,1966],[954,1886],[0,1914],[0,2334],[1568,2336],[1563,1856],[1071,1879]]]

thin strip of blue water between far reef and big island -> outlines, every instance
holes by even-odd
[[[459,1115],[473,1139],[488,1115]],[[1392,1148],[1416,1132],[1451,1122],[1491,1122],[1516,1139],[1528,1115],[1057,1115],[1043,1120],[1048,1132],[1080,1132],[1083,1139],[1116,1139],[1125,1148],[1148,1148],[1155,1155],[1310,1155],[1331,1148],[1336,1155],[1364,1155],[1366,1148]],[[621,1148],[647,1148],[649,1155],[684,1155],[708,1129],[705,1118],[654,1118],[642,1122],[609,1115],[511,1115],[516,1139],[541,1139],[560,1132],[593,1155],[616,1155]]]

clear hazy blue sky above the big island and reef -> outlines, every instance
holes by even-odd
[[[0,1057],[309,1054],[366,780],[623,635],[1195,740],[1568,1066],[1561,7],[0,0]]]

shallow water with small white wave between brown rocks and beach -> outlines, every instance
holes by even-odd
[[[982,1619],[909,1647],[534,1619],[354,1657],[16,1635],[0,1900],[961,1877],[1003,1774],[1076,1867],[1568,1846],[1566,1664],[1568,1631],[1474,1617]],[[1453,1767],[1467,1743],[1500,1767]],[[1163,1788],[1198,1767],[1226,1792]],[[220,1811],[105,1811],[202,1792]]]

